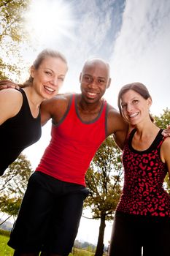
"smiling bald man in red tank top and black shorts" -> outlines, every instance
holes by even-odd
[[[42,124],[52,118],[52,138],[28,188],[9,239],[16,256],[66,256],[72,251],[88,195],[85,172],[109,135],[123,148],[128,125],[102,98],[110,86],[109,64],[85,62],[81,94],[43,102]]]

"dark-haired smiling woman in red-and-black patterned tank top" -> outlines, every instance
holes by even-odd
[[[120,89],[120,113],[134,129],[123,149],[123,193],[109,256],[170,255],[170,196],[163,189],[166,173],[170,174],[170,138],[163,138],[153,123],[151,105],[142,83]]]

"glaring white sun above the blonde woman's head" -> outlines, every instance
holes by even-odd
[[[36,42],[72,39],[72,6],[64,0],[32,0],[26,14],[26,29]]]

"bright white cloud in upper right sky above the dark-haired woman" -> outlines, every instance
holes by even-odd
[[[169,26],[169,1],[126,2],[122,28],[110,62],[113,81],[107,97],[113,105],[121,86],[140,81],[150,90],[154,114],[169,107]]]

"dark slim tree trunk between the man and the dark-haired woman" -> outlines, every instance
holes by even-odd
[[[101,215],[101,223],[99,227],[99,234],[98,234],[98,242],[96,247],[96,252],[94,256],[102,256],[104,252],[104,229],[106,227],[105,224],[105,214]]]

